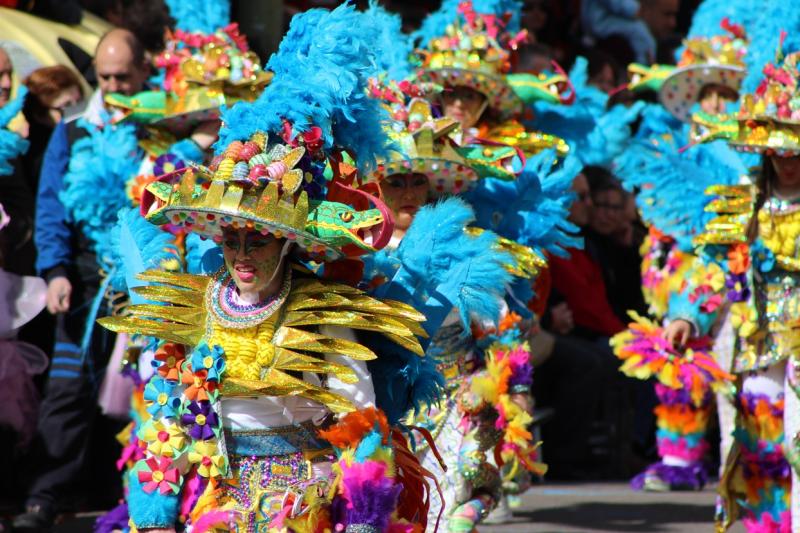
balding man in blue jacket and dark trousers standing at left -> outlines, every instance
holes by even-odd
[[[95,68],[99,88],[84,118],[99,125],[103,95],[141,91],[149,68],[142,45],[121,29],[111,30],[100,40]],[[42,163],[35,232],[37,269],[48,283],[47,308],[57,315],[56,348],[32,450],[33,481],[26,511],[14,520],[18,531],[51,527],[58,499],[80,478],[96,413],[95,368],[104,366],[103,358],[108,358],[113,344],[108,332],[95,328],[87,354],[81,348],[90,303],[100,288],[100,273],[87,239],[79,227],[67,221],[59,201],[71,146],[85,135],[75,121],[59,123]]]

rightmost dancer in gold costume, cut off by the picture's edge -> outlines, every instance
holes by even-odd
[[[798,60],[798,53],[779,53],[758,90],[742,98],[730,142],[762,154],[760,172],[754,186],[709,189],[718,217],[696,239],[706,271],[671,303],[665,331],[669,342],[685,344],[708,332],[723,297],[731,304],[738,412],[720,484],[720,529],[741,518],[749,531],[788,532],[799,516],[793,339],[800,143],[791,107]]]

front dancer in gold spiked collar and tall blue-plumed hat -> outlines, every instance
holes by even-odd
[[[140,531],[172,531],[179,517],[193,531],[424,524],[421,495],[403,481],[408,465],[392,453],[402,443],[372,407],[375,353],[351,332],[421,355],[422,317],[298,262],[374,252],[390,237],[388,210],[343,184],[354,169],[337,155],[347,147],[366,164],[385,150],[366,95],[372,34],[351,31],[361,20],[349,5],[296,16],[270,60],[273,83],[224,114],[212,166],[148,186],[148,220],[212,238],[225,266],[212,276],[145,273],[157,284],[136,291],[169,305],[103,320],[165,341],[145,391],[146,458],[129,480]]]

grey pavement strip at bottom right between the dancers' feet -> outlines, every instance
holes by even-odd
[[[537,485],[522,496],[514,521],[480,533],[702,533],[714,531],[715,487],[647,493],[626,483]],[[737,524],[731,533],[743,533]]]

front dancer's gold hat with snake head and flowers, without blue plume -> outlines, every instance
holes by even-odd
[[[176,170],[145,188],[142,214],[221,242],[226,228],[247,228],[297,243],[317,260],[374,252],[392,219],[371,194],[351,187],[355,169],[326,159],[318,129],[269,142],[257,132],[233,141],[209,168]],[[274,139],[273,139],[274,140]],[[334,168],[333,179],[325,169]]]

